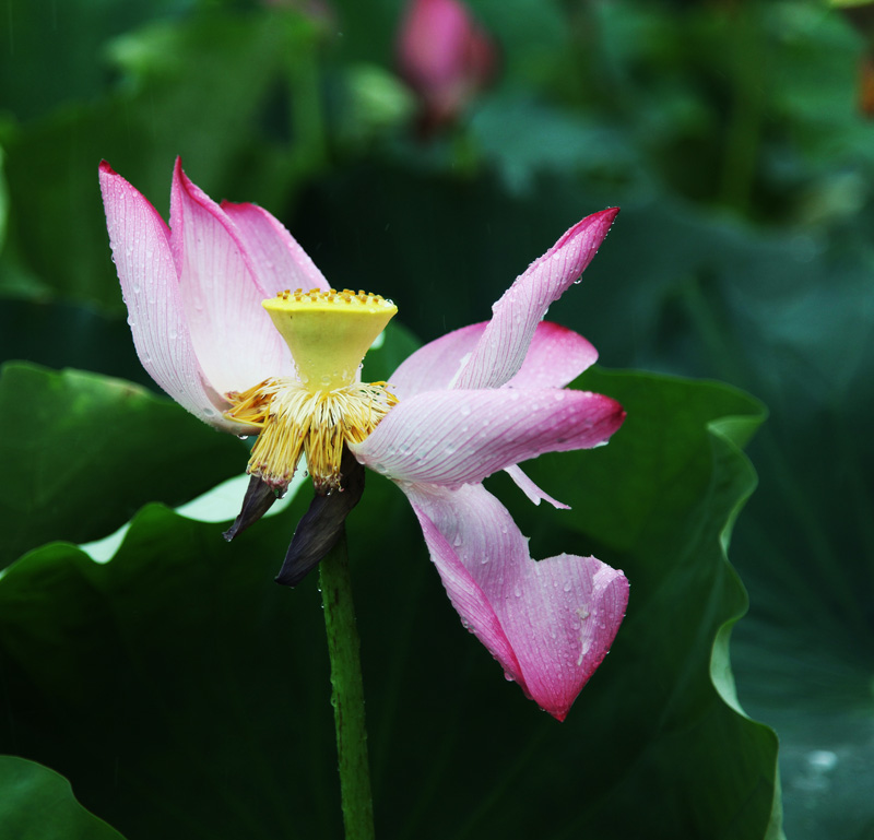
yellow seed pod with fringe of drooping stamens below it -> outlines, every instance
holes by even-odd
[[[284,490],[302,454],[317,493],[342,486],[344,443],[362,442],[398,402],[386,382],[357,382],[358,366],[398,311],[364,292],[281,292],[263,301],[292,351],[297,379],[267,379],[227,399],[226,413],[261,431],[248,472]]]

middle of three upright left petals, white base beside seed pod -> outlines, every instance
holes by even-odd
[[[221,393],[244,391],[291,369],[261,287],[231,217],[185,175],[177,159],[170,244],[198,360]]]

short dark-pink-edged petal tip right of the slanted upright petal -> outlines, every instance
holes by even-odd
[[[519,372],[505,388],[564,388],[598,362],[598,351],[567,327],[541,321]]]

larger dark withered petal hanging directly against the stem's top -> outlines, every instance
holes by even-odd
[[[276,583],[296,587],[342,536],[346,517],[364,493],[364,466],[345,447],[340,475],[343,489],[315,496],[309,510],[298,522]]]

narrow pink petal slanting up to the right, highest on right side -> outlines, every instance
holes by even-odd
[[[458,378],[458,388],[497,388],[522,367],[550,305],[582,273],[610,230],[617,208],[571,227],[492,307],[492,320]]]

